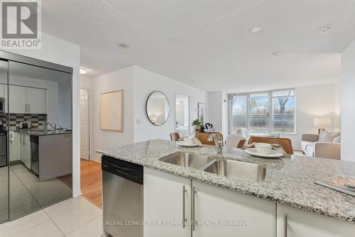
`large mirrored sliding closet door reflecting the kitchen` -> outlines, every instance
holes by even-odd
[[[72,197],[70,131],[64,135],[36,136],[38,131],[44,131],[45,121],[57,124],[58,128],[72,126],[72,75],[13,61],[9,61],[7,75],[9,99],[5,100],[9,102],[9,114],[5,118],[9,123],[4,124],[9,131],[11,198],[9,202],[1,199],[0,206],[9,203],[8,219],[12,220]],[[28,123],[29,129],[35,131],[21,131],[21,123]],[[18,139],[16,131],[21,131]],[[44,175],[50,179],[40,180]]]

